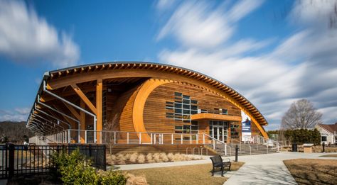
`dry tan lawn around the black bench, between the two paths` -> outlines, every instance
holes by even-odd
[[[232,171],[243,162],[232,162]],[[211,176],[212,164],[196,164],[181,167],[161,167],[129,170],[130,174],[144,175],[149,184],[223,184],[227,178]]]

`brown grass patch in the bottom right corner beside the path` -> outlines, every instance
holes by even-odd
[[[283,162],[298,184],[337,184],[336,159],[290,159]]]

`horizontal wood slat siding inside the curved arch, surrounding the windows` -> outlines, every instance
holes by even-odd
[[[214,108],[227,108],[233,116],[241,116],[240,108],[232,105],[217,94],[200,89],[191,84],[169,83],[164,84],[151,92],[144,108],[144,125],[148,132],[174,133],[175,125],[183,125],[181,120],[166,118],[166,101],[174,101],[174,92],[191,96],[198,101],[198,108],[214,111]],[[188,123],[185,123],[188,124]],[[199,133],[209,134],[208,121],[199,121]]]

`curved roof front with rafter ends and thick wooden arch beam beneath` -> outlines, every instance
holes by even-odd
[[[125,77],[146,77],[196,84],[228,99],[228,101],[250,116],[260,131],[264,131],[261,125],[268,124],[262,113],[230,86],[205,74],[172,65],[149,62],[106,62],[46,72],[43,79],[46,80],[48,89],[60,89],[65,86],[91,82],[97,79]],[[262,132],[262,135],[265,136],[265,132]]]

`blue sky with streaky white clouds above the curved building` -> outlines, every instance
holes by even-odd
[[[308,3],[311,2],[311,3]],[[43,72],[161,62],[232,86],[279,128],[309,99],[337,121],[336,1],[0,0],[0,120],[26,120]]]

